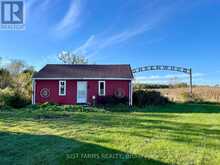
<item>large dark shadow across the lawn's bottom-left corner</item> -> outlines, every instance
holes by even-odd
[[[166,164],[60,136],[0,132],[0,141],[0,164]]]

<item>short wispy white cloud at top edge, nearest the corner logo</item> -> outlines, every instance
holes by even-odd
[[[72,0],[70,7],[62,20],[55,26],[56,33],[68,34],[80,26],[81,1]]]

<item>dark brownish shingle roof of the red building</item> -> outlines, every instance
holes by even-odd
[[[35,79],[132,79],[130,65],[48,64]]]

